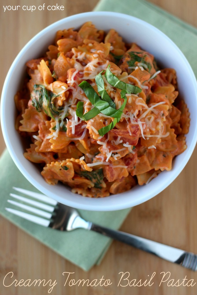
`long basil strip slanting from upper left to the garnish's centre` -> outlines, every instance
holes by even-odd
[[[87,81],[81,82],[79,87],[83,89],[91,104],[99,109],[102,114],[113,118],[121,117],[122,112],[112,108],[107,101],[102,100]]]

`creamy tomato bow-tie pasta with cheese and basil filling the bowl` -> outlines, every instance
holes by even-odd
[[[30,140],[24,156],[47,183],[105,197],[172,168],[190,123],[174,69],[91,22],[58,31],[48,48],[26,63],[15,95],[16,129]]]

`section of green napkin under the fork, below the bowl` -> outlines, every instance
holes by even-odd
[[[0,214],[2,216],[86,271],[101,261],[101,258],[111,243],[110,238],[83,229],[77,229],[72,232],[60,232],[51,228],[42,227],[7,212],[5,207],[14,208],[14,206],[7,203],[9,194],[11,192],[17,194],[12,189],[12,186],[37,192],[38,190],[20,173],[7,150],[4,151],[0,158],[0,167]],[[4,168],[2,169],[2,167]],[[20,195],[22,196],[22,194]],[[124,221],[130,209],[112,212],[78,211],[86,220],[117,229]]]

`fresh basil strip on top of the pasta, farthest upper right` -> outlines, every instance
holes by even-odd
[[[107,82],[110,85],[112,85],[118,89],[125,89],[127,91],[127,93],[137,94],[142,91],[142,89],[137,86],[120,81],[114,74],[112,74],[112,72],[109,69],[109,66],[106,69],[105,78],[107,79]]]

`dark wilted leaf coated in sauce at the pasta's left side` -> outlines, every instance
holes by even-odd
[[[63,112],[63,107],[56,108],[53,103],[53,99],[58,95],[47,90],[43,85],[35,84],[33,87],[35,97],[32,99],[32,106],[34,106],[38,112],[44,112],[52,119],[55,119],[55,115],[59,115]]]

